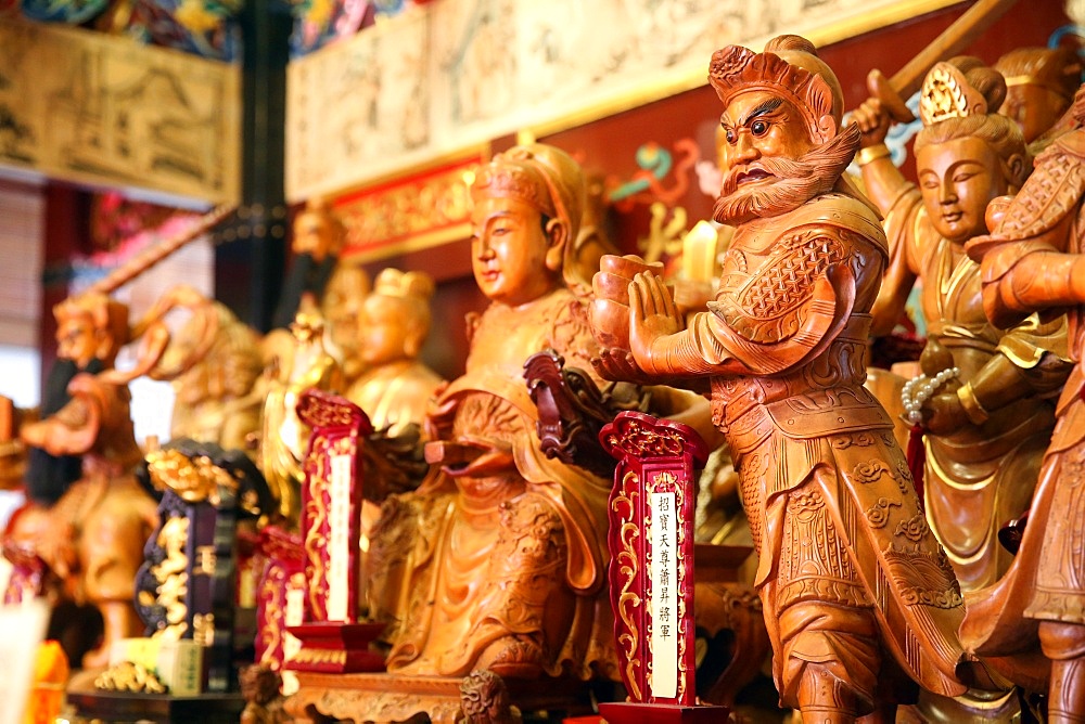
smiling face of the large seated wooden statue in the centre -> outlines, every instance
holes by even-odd
[[[550,237],[536,208],[516,198],[480,198],[471,223],[471,267],[492,301],[519,307],[557,288],[559,270],[547,264]]]

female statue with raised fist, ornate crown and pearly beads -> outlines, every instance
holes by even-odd
[[[890,242],[872,334],[892,328],[920,282],[924,376],[905,408],[924,432],[928,521],[966,594],[994,583],[1012,559],[998,530],[1029,506],[1055,424],[1051,398],[1068,372],[1064,320],[992,324],[980,267],[965,254],[986,231],[987,203],[1014,192],[1030,170],[1020,129],[995,113],[1004,92],[1001,76],[974,59],[931,69],[915,143],[919,189],[881,143],[889,124],[880,101],[853,114],[865,134],[863,179]]]

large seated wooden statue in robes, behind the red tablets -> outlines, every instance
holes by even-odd
[[[518,146],[480,171],[472,195],[472,267],[490,303],[471,322],[467,372],[429,419],[431,475],[390,497],[372,533],[370,606],[392,624],[387,670],[610,673],[611,481],[540,452],[524,380],[535,352],[590,370],[598,349],[563,277],[582,173],[558,148]]]

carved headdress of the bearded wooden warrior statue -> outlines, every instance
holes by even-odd
[[[765,52],[728,46],[712,54],[709,82],[724,105],[739,93],[764,90],[789,101],[803,116],[810,139],[825,143],[840,129],[844,93],[814,44],[795,35],[769,40]]]

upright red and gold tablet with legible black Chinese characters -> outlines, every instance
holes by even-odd
[[[694,708],[694,467],[707,450],[690,427],[620,413],[600,434],[618,461],[608,545],[622,681],[628,702],[600,704],[612,723],[718,721],[725,707]]]

